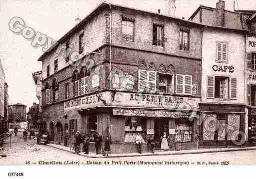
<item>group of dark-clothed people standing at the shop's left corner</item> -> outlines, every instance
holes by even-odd
[[[95,152],[96,155],[100,154],[101,151],[101,145],[102,145],[102,137],[97,133],[95,136]],[[89,145],[90,145],[90,139],[88,135],[82,136],[79,131],[77,131],[74,135],[74,138],[71,141],[71,145],[74,145],[74,149],[77,147],[80,147],[80,145],[83,144],[83,152],[84,154],[89,154]],[[104,142],[104,154],[103,156],[108,156],[110,152],[110,145],[112,144],[110,138],[107,136],[106,140]],[[70,146],[71,148],[71,146]]]

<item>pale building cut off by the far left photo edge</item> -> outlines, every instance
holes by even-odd
[[[7,131],[7,121],[4,118],[5,74],[0,60],[0,134]]]

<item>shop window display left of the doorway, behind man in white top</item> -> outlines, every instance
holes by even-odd
[[[143,139],[142,142],[145,142],[146,127],[146,119],[138,117],[127,117],[124,127],[124,142],[136,142],[137,134],[140,134]]]

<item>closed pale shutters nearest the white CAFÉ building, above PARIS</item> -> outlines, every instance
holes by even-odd
[[[192,76],[176,75],[176,94],[192,94]]]

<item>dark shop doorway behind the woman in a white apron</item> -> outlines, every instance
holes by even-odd
[[[169,120],[156,118],[154,123],[154,139],[156,141],[156,149],[160,149],[161,136],[164,135],[164,132],[166,132],[166,136],[169,136]]]

